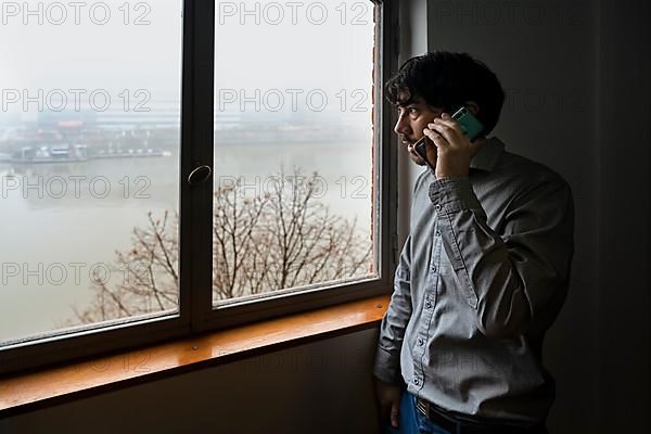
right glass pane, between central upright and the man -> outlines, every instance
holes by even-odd
[[[374,4],[215,13],[214,304],[376,276]]]

